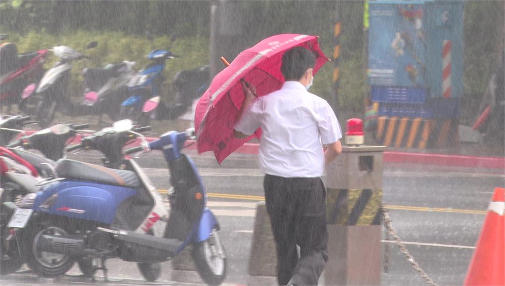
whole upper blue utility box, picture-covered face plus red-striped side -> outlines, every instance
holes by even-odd
[[[405,102],[418,99],[419,88],[430,98],[462,96],[462,2],[378,0],[370,1],[369,11],[372,87],[412,88]]]

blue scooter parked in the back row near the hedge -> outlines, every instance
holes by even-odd
[[[165,81],[163,71],[166,60],[176,57],[167,50],[154,50],[147,55],[147,58],[152,62],[128,82],[128,93],[133,95],[121,104],[120,117],[122,119],[135,121],[141,119],[145,101],[160,95],[161,86]]]

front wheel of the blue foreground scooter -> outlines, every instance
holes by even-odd
[[[208,240],[193,244],[191,255],[198,274],[207,284],[220,285],[223,282],[226,276],[226,254],[216,229]]]

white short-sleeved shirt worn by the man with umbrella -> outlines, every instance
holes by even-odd
[[[307,91],[298,81],[286,81],[281,89],[255,100],[234,128],[251,135],[258,127],[263,131],[262,171],[287,178],[322,176],[322,145],[342,137],[328,102]]]

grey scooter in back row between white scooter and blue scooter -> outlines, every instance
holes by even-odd
[[[98,115],[98,125],[102,124],[104,114],[118,120],[121,103],[128,98],[128,82],[135,74],[134,65],[135,62],[124,61],[101,69],[84,69],[86,90],[79,114]]]

